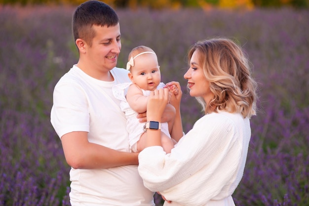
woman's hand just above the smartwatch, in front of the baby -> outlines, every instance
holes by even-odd
[[[168,88],[160,88],[150,93],[147,103],[147,121],[161,122],[163,111],[168,103]]]

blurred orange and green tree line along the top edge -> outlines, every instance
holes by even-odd
[[[0,0],[0,4],[10,5],[78,5],[85,0]],[[309,0],[102,0],[114,7],[147,7],[152,9],[181,7],[221,7],[221,8],[253,8],[282,7],[308,8]]]

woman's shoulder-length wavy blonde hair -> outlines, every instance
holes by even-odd
[[[198,41],[189,49],[189,64],[195,51],[214,95],[208,105],[196,97],[203,110],[241,113],[244,118],[256,115],[257,83],[242,48],[226,38]]]

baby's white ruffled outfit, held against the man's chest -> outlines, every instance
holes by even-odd
[[[128,87],[132,84],[130,83],[120,83],[113,86],[113,94],[116,97],[116,99],[119,99],[120,102],[120,109],[124,112],[126,119],[127,119],[127,131],[129,132],[129,144],[130,149],[133,152],[137,152],[136,143],[140,139],[141,135],[144,133],[144,125],[145,123],[140,123],[139,120],[136,118],[138,115],[137,112],[135,112],[129,105],[129,103],[126,100],[126,93],[128,90]],[[156,87],[157,89],[163,88],[164,83],[160,82],[159,85]],[[150,90],[144,90],[141,89],[144,96],[150,95]],[[169,138],[171,138],[168,130],[168,124],[162,123],[161,124],[161,131],[163,131]]]

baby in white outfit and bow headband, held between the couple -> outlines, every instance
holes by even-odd
[[[127,118],[127,131],[132,151],[142,151],[145,148],[145,123],[140,123],[136,115],[146,112],[147,101],[151,91],[163,88],[160,66],[153,49],[147,46],[137,46],[131,50],[126,69],[131,83],[121,83],[113,87],[115,97],[121,100],[120,108]],[[178,93],[175,85],[168,87],[169,96]],[[161,124],[161,143],[163,150],[170,153],[176,141],[171,138],[173,121]]]

